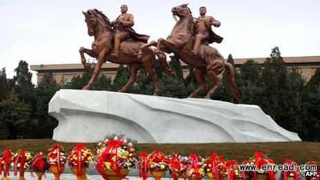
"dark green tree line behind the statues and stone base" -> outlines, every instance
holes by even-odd
[[[234,65],[231,54],[228,62]],[[172,59],[169,64],[176,72],[177,79],[162,73],[159,61],[156,61],[160,96],[188,97],[199,87],[192,73],[193,68],[190,68],[188,77],[183,78],[180,61]],[[82,76],[74,77],[71,83],[66,83],[63,79],[57,82],[52,74],[46,74],[34,86],[26,61],[20,61],[14,71],[16,75],[8,79],[6,68],[0,70],[0,139],[51,138],[58,122],[48,114],[50,99],[60,89],[82,89],[92,75],[91,71],[86,71]],[[92,90],[117,92],[128,79],[128,69],[119,66],[113,81],[102,74]],[[214,94],[214,100],[260,106],[279,126],[297,132],[303,141],[320,141],[320,68],[306,81],[296,66],[287,69],[279,48],[275,47],[263,67],[253,59],[248,59],[236,72],[235,81],[242,94],[241,102],[231,96],[224,74],[220,80],[221,86]],[[206,82],[210,84],[208,79]],[[146,70],[139,70],[137,81],[129,93],[153,94],[152,79]],[[203,98],[206,93],[199,94],[199,98]]]

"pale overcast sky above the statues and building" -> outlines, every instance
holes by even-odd
[[[278,46],[282,57],[320,55],[320,0],[0,0],[0,68],[14,76],[20,60],[29,65],[80,63],[79,48],[90,48],[82,10],[101,10],[110,20],[121,4],[134,14],[134,30],[150,40],[166,38],[174,26],[171,8],[189,3],[221,21],[214,32],[224,37],[214,46],[225,58],[268,57]],[[33,72],[36,83],[36,73]]]

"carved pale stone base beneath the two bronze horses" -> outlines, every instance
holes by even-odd
[[[59,90],[49,103],[53,138],[91,143],[123,133],[139,143],[301,141],[259,106],[107,91]]]

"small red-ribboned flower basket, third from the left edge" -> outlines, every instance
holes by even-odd
[[[33,171],[36,172],[38,180],[40,180],[42,179],[42,176],[45,174],[46,170],[48,170],[47,157],[40,152],[34,157],[34,160],[30,166],[31,177],[34,177],[32,174]]]

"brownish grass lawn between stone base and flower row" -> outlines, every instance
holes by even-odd
[[[44,152],[53,144],[59,143],[67,152],[74,148],[76,143],[62,143],[52,139],[17,139],[0,141],[0,152],[3,150],[19,150],[26,148],[31,152]],[[94,149],[97,143],[85,143],[87,148]],[[248,159],[254,151],[259,150],[268,157],[274,159],[277,164],[283,163],[284,159],[293,159],[298,164],[303,164],[308,161],[320,161],[320,143],[314,142],[278,142],[278,143],[199,143],[199,144],[150,144],[138,143],[134,145],[137,154],[140,152],[152,152],[153,150],[161,150],[165,154],[179,151],[182,154],[198,154],[208,156],[212,152],[222,154],[225,159],[237,159],[238,162]]]

